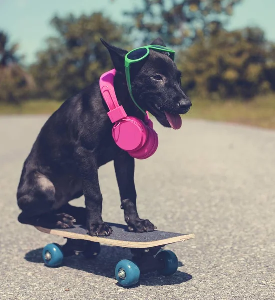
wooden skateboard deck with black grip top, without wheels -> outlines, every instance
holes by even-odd
[[[87,230],[81,225],[74,225],[69,229],[47,229],[43,227],[35,227],[41,232],[58,235],[70,239],[82,239],[102,244],[118,246],[123,248],[152,248],[172,244],[175,242],[192,239],[194,234],[182,234],[155,230],[153,232],[136,233],[129,232],[126,225],[108,223],[113,234],[110,236],[90,236]]]

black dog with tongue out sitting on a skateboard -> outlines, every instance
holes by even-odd
[[[114,88],[119,104],[128,115],[144,120],[127,89],[124,69],[127,51],[103,40],[102,43],[117,71]],[[159,38],[152,44],[165,46]],[[138,105],[165,127],[171,127],[165,111],[178,115],[190,109],[191,102],[181,88],[181,74],[164,52],[150,50],[146,59],[134,63],[131,81]],[[21,223],[68,228],[77,221],[86,225],[90,235],[110,235],[112,229],[101,217],[98,168],[114,160],[121,208],[129,230],[144,232],[156,228],[138,216],[134,158],[115,144],[111,134],[113,124],[107,112],[99,82],[96,82],[66,100],[47,120],[23,165],[17,191]],[[82,195],[85,208],[68,204]]]

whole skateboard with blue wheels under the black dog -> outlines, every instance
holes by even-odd
[[[41,232],[67,238],[65,245],[51,243],[43,248],[46,266],[58,267],[64,257],[82,253],[94,259],[100,253],[100,243],[122,248],[130,248],[132,259],[120,260],[115,267],[115,277],[122,286],[133,286],[139,281],[140,274],[159,271],[170,276],[177,271],[178,260],[174,252],[164,250],[165,245],[192,239],[194,234],[182,234],[155,230],[152,232],[129,232],[126,225],[108,223],[113,234],[110,236],[90,236],[81,225],[68,229],[47,229],[35,226]]]

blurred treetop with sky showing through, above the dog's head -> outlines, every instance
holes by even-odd
[[[241,1],[142,0],[142,6],[125,14],[134,19],[129,30],[141,32],[145,44],[161,36],[167,45],[190,46],[202,35],[222,29],[233,7]]]

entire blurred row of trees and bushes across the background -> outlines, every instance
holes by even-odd
[[[189,94],[210,99],[266,94],[275,90],[275,45],[259,28],[224,29],[241,1],[142,0],[138,9],[126,12],[134,23],[128,28],[131,36],[125,24],[102,13],[55,16],[51,25],[56,34],[37,53],[30,74],[16,55],[18,45],[9,46],[7,35],[0,32],[0,102],[19,103],[30,96],[65,100],[75,95],[113,67],[100,38],[130,50],[133,35],[142,37],[141,44],[161,36],[177,51]]]

